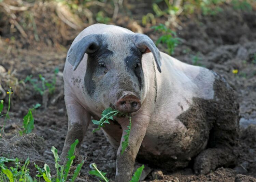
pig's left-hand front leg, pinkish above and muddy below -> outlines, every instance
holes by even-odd
[[[65,144],[60,156],[64,161],[70,149],[70,145],[74,143],[76,139],[79,140],[76,146],[76,152],[79,152],[85,132],[90,123],[90,114],[79,103],[75,102],[72,97],[65,96],[65,103],[69,124]]]

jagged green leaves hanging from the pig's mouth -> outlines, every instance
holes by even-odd
[[[109,123],[109,120],[114,120],[114,116],[128,116],[128,114],[123,114],[123,113],[120,113],[119,111],[117,110],[114,110],[112,108],[107,108],[105,109],[104,111],[102,111],[101,113],[101,119],[99,121],[97,120],[91,120],[93,122],[93,124],[96,124],[96,125],[99,125],[98,128],[96,128],[95,130],[93,130],[93,132],[97,131],[97,130],[100,130],[101,127],[104,127],[104,124],[105,123]],[[122,142],[122,151],[121,151],[121,154],[124,153],[126,147],[128,146],[129,144],[129,135],[130,135],[130,130],[131,130],[131,114],[129,115],[129,121],[130,121],[130,124],[128,125],[128,130],[125,130],[126,134],[124,135],[124,141]]]

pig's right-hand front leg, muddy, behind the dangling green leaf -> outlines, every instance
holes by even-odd
[[[123,129],[123,134],[120,146],[117,150],[115,182],[128,182],[131,180],[135,159],[146,134],[149,122],[150,117],[132,117],[129,145],[123,154],[121,154],[122,142],[124,141],[123,136],[126,134],[125,130],[128,129],[127,126],[129,125],[129,120],[120,123]]]

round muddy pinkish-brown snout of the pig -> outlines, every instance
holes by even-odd
[[[140,107],[140,99],[131,94],[123,96],[116,102],[116,109],[123,113],[136,112]]]

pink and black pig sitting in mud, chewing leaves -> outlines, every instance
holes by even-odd
[[[174,171],[194,164],[207,174],[234,163],[239,105],[233,89],[215,72],[188,65],[163,52],[144,34],[94,24],[73,41],[63,71],[68,132],[62,150],[79,139],[91,117],[106,108],[131,114],[129,145],[123,154],[127,117],[103,127],[117,149],[115,182],[131,179],[134,162]]]

